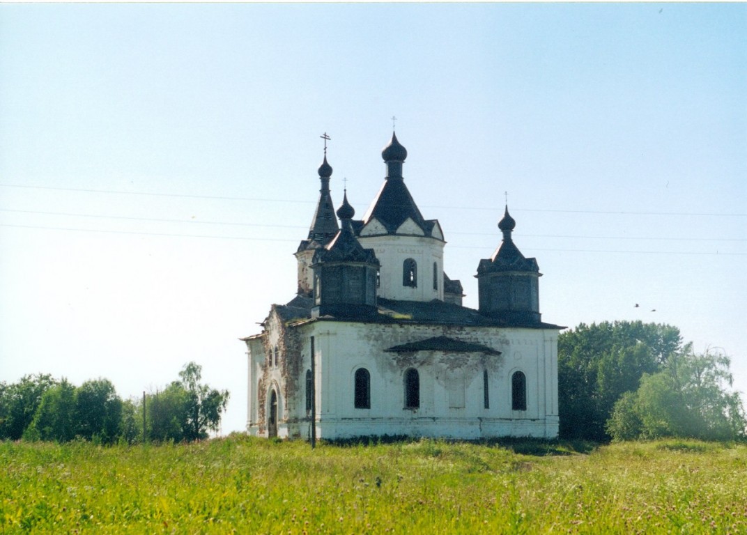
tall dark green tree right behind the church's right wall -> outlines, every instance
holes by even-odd
[[[641,321],[580,324],[558,338],[560,435],[607,440],[605,424],[624,392],[681,347],[676,327]]]

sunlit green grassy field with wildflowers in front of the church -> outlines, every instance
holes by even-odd
[[[747,446],[0,443],[16,533],[747,533]]]

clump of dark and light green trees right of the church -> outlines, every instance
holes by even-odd
[[[560,436],[744,439],[730,365],[720,350],[696,353],[670,325],[580,324],[558,338]]]

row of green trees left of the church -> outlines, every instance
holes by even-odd
[[[163,390],[123,400],[107,379],[74,386],[49,374],[25,375],[17,383],[0,383],[0,439],[102,444],[205,439],[218,430],[229,392],[201,379],[202,367],[189,362]]]

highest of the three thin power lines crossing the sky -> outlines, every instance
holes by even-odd
[[[314,200],[289,200],[289,199],[264,199],[260,197],[229,197],[216,195],[189,195],[189,194],[164,194],[149,193],[146,191],[118,191],[118,190],[93,190],[82,188],[56,188],[52,186],[32,186],[22,184],[0,184],[2,188],[26,188],[52,191],[75,191],[81,193],[94,194],[117,194],[117,195],[145,195],[152,197],[181,197],[186,199],[210,199],[210,200],[238,200],[252,202],[291,202],[297,204],[313,204]],[[433,208],[437,210],[483,210],[496,211],[495,207],[482,206],[436,206],[423,205],[423,208]],[[675,215],[675,216],[708,216],[708,217],[747,217],[746,214],[729,214],[724,212],[678,212],[678,211],[629,211],[629,210],[561,210],[552,208],[512,208],[512,211],[536,211],[548,213],[563,214],[615,214],[615,215]]]

